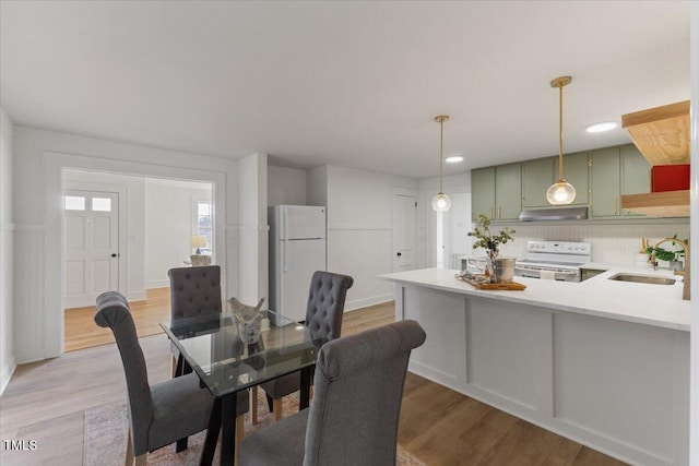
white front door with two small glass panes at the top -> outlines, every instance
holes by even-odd
[[[119,289],[119,194],[66,190],[64,307],[94,306]]]

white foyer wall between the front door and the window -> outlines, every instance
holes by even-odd
[[[145,179],[145,288],[169,287],[167,271],[186,266],[197,202],[211,202],[211,186]]]

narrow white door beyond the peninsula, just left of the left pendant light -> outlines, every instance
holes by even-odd
[[[393,194],[392,205],[393,228],[393,272],[415,268],[415,212],[417,196],[396,193]]]

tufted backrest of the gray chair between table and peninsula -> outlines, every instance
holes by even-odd
[[[348,275],[313,273],[308,291],[306,326],[315,337],[340,338],[345,298],[353,284],[354,278]]]

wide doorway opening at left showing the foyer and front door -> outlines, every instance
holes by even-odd
[[[93,321],[107,290],[127,297],[139,337],[161,333],[167,271],[213,258],[213,183],[78,169],[63,169],[62,182],[66,350],[114,342]]]

